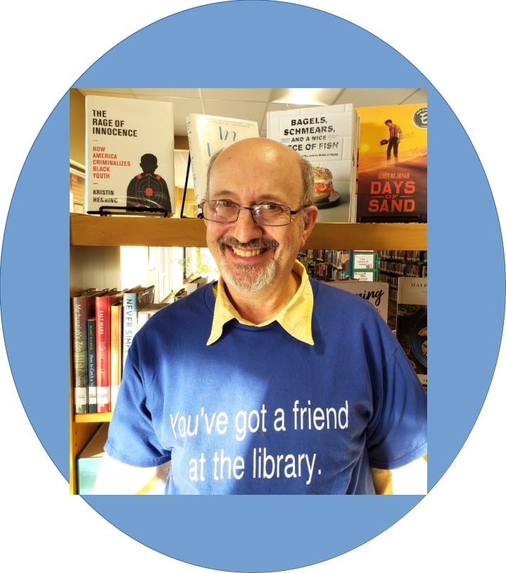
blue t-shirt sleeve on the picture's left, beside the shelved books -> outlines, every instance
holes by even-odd
[[[170,460],[170,450],[164,450],[156,436],[146,405],[144,383],[134,338],[125,362],[104,450],[119,462],[137,467],[155,467]]]

